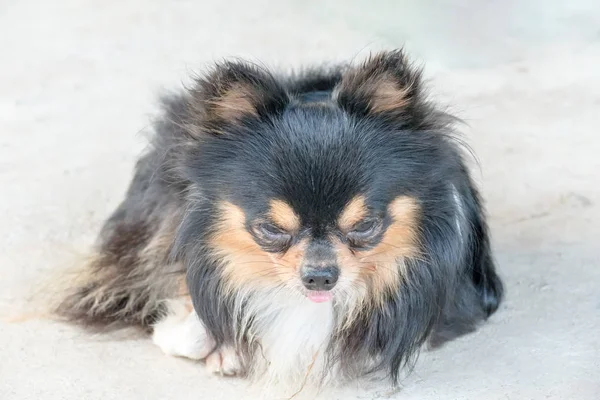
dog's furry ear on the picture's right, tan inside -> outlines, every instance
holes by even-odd
[[[410,65],[402,50],[376,54],[362,65],[349,68],[336,92],[340,107],[359,117],[407,120],[427,108],[421,71]]]

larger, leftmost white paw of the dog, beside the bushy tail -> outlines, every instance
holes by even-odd
[[[170,356],[192,360],[205,358],[214,348],[214,341],[194,311],[183,300],[172,300],[168,314],[154,325],[152,341]]]

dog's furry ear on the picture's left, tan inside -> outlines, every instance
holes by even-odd
[[[286,91],[267,70],[243,62],[224,62],[200,78],[190,91],[190,107],[211,132],[223,124],[263,119],[283,112]]]

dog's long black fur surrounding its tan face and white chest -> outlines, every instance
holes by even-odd
[[[385,80],[386,89],[404,96],[398,107],[372,101]],[[245,98],[256,112],[223,118],[215,104],[240,86],[251,89]],[[181,216],[170,261],[187,271],[195,310],[217,347],[235,342],[237,323],[221,260],[209,245],[222,201],[240,206],[251,220],[267,211],[270,199],[283,199],[318,238],[333,232],[340,211],[357,194],[366,194],[369,208],[380,216],[397,196],[418,200],[421,256],[407,260],[408,276],[383,307],[362,313],[330,343],[331,358],[347,375],[383,370],[396,381],[428,339],[439,345],[470,332],[497,309],[502,284],[479,194],[452,139],[452,118],[427,101],[419,71],[402,52],[383,53],[360,67],[308,70],[291,78],[227,62],[189,92],[165,99],[164,107],[153,150],[138,164],[127,199],[107,222],[101,251],[119,240],[122,229],[140,223],[152,229],[161,210],[175,205]],[[455,193],[462,228],[456,224]],[[139,237],[142,245],[144,238]],[[112,264],[129,263],[136,246],[122,255],[111,251],[119,258]],[[238,350],[247,360],[255,356],[249,344]]]

